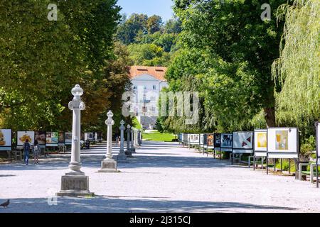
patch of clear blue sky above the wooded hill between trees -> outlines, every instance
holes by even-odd
[[[122,7],[121,13],[144,13],[148,16],[154,14],[161,16],[164,21],[172,17],[172,0],[118,0],[118,6]]]

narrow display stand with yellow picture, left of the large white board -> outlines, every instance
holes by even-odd
[[[256,167],[257,157],[261,157],[261,168],[263,170],[263,164],[267,157],[267,129],[256,129],[253,136],[255,138],[253,170]]]

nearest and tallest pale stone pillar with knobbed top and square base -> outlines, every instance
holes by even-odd
[[[58,196],[87,196],[93,195],[89,191],[89,177],[81,171],[80,162],[80,118],[81,111],[85,109],[85,104],[81,101],[80,96],[83,89],[77,84],[71,90],[73,101],[69,102],[69,109],[73,111],[73,137],[71,144],[71,161],[70,171],[61,177],[61,190]]]

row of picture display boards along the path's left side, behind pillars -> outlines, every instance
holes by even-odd
[[[35,140],[44,147],[58,147],[71,145],[72,133],[64,132],[45,132],[45,131],[17,131],[16,146],[21,148],[28,139],[29,143],[34,144]],[[11,129],[0,129],[0,150],[12,150],[12,138],[14,135]],[[98,141],[102,140],[102,133],[82,133],[82,140]]]

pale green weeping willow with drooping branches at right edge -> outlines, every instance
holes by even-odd
[[[280,57],[273,76],[282,91],[277,93],[277,119],[302,130],[320,119],[320,1],[297,0],[282,5],[278,18],[285,18]]]

